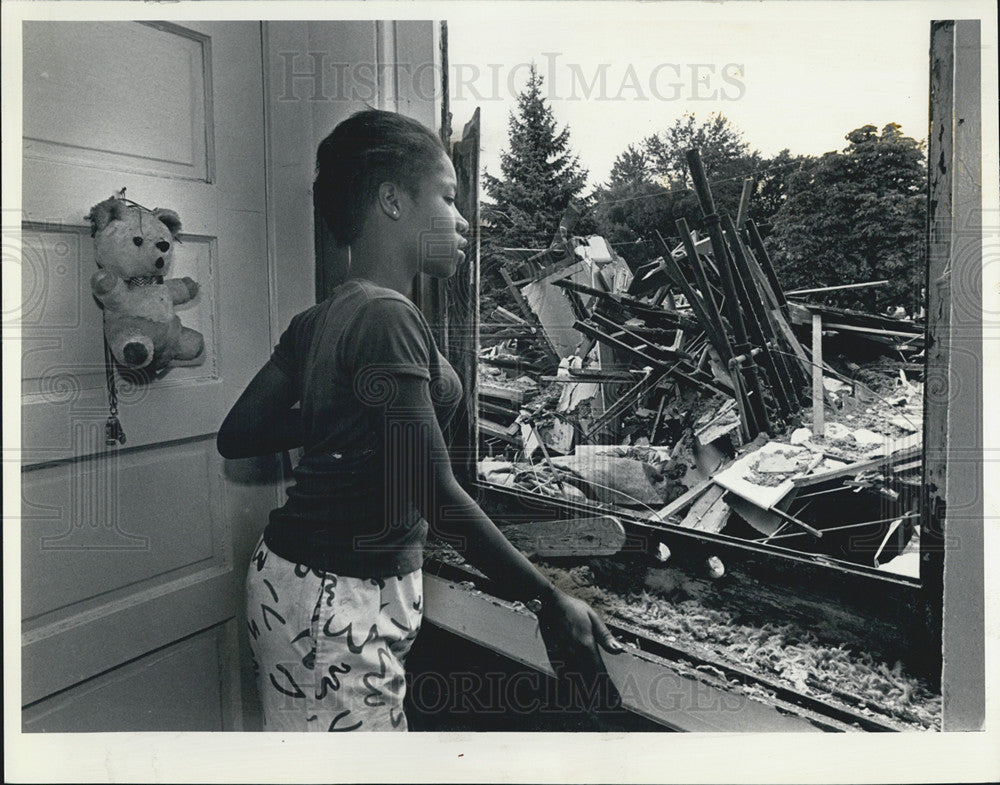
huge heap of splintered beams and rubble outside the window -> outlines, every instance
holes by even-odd
[[[688,162],[706,236],[679,220],[629,266],[571,210],[501,268],[520,313],[482,324],[480,478],[915,577],[922,326],[786,295]]]

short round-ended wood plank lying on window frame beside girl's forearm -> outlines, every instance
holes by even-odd
[[[501,531],[514,547],[538,556],[613,556],[625,545],[625,527],[613,515],[515,523]]]

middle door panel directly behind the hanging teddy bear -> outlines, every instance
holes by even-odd
[[[80,445],[68,438],[74,425],[108,407],[101,312],[90,296],[90,276],[97,269],[93,241],[89,229],[57,229],[36,222],[22,227],[21,238],[22,249],[28,249],[32,260],[22,264],[22,288],[31,298],[21,326],[22,419],[26,437],[30,434],[23,440],[22,457],[37,463],[79,456]],[[137,386],[132,377],[123,375],[118,395],[129,446],[196,436],[218,425],[213,419],[222,398],[217,365],[217,234],[184,233],[181,240],[174,249],[170,277],[190,276],[200,292],[175,310],[186,327],[204,336],[205,361],[171,368],[153,385]],[[197,405],[198,399],[208,398],[214,398],[216,405]],[[183,410],[188,415],[182,422],[162,415],[142,416],[156,409]]]

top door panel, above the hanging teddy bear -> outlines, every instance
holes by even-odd
[[[210,180],[210,40],[177,25],[26,22],[25,154]]]

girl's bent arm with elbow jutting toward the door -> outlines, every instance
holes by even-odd
[[[229,410],[216,446],[223,458],[249,458],[302,446],[300,410],[288,375],[267,362]]]

